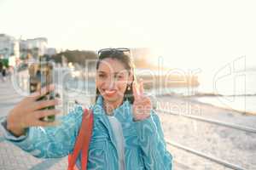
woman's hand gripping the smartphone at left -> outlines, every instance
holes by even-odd
[[[49,93],[54,90],[54,86],[49,86],[38,90],[38,92],[27,96],[22,99],[20,103],[15,105],[15,107],[9,112],[7,116],[7,128],[14,133],[16,136],[20,136],[25,132],[26,127],[32,126],[55,126],[60,124],[60,122],[42,122],[41,117],[51,116],[59,114],[61,111],[58,110],[41,110],[48,106],[58,105],[58,99],[41,100],[37,99],[44,96],[44,94]]]

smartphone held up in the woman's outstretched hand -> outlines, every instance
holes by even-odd
[[[32,63],[28,67],[29,72],[29,90],[30,93],[34,93],[41,88],[44,88],[54,83],[54,63],[49,61],[41,61],[38,63]],[[38,100],[49,100],[55,99],[55,92],[51,91],[48,94],[40,97]],[[40,110],[51,110],[55,109],[55,106],[45,107]],[[40,118],[44,122],[54,122],[55,115],[45,116]]]

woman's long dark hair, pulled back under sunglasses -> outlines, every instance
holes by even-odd
[[[118,48],[116,49],[111,48],[106,51],[103,51],[102,53],[99,54],[98,59],[96,61],[96,70],[98,70],[102,59],[108,59],[108,58],[119,60],[125,66],[125,69],[129,72],[129,76],[133,74],[132,82],[135,80],[135,75],[134,75],[135,65],[134,65],[133,59],[131,58],[130,51],[129,51],[129,54],[126,54],[125,51],[118,50]],[[123,101],[128,99],[128,101],[131,104],[133,104],[133,101],[134,101],[133,92],[132,92],[132,82],[130,84],[130,89],[128,89],[128,86],[126,87],[125,95],[123,99]],[[100,92],[98,88],[96,88],[96,99],[99,97],[99,95],[100,95]]]

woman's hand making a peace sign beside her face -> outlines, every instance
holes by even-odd
[[[136,81],[132,82],[132,91],[134,96],[133,119],[134,121],[142,121],[150,116],[150,110],[152,109],[151,99],[144,95],[142,79],[139,85]]]

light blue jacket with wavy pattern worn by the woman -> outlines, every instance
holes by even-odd
[[[94,127],[90,140],[87,169],[118,170],[118,151],[113,128],[102,108],[102,96],[90,107],[94,113]],[[5,130],[5,138],[22,150],[38,158],[60,158],[73,152],[74,143],[82,122],[83,108],[74,107],[61,117],[57,127],[29,127],[24,136],[15,138]],[[126,170],[169,170],[172,155],[166,150],[166,142],[159,116],[151,110],[150,116],[140,122],[132,120],[132,105],[125,100],[113,111],[123,127],[125,139]],[[84,129],[86,130],[86,129]],[[76,164],[81,169],[81,155]]]

